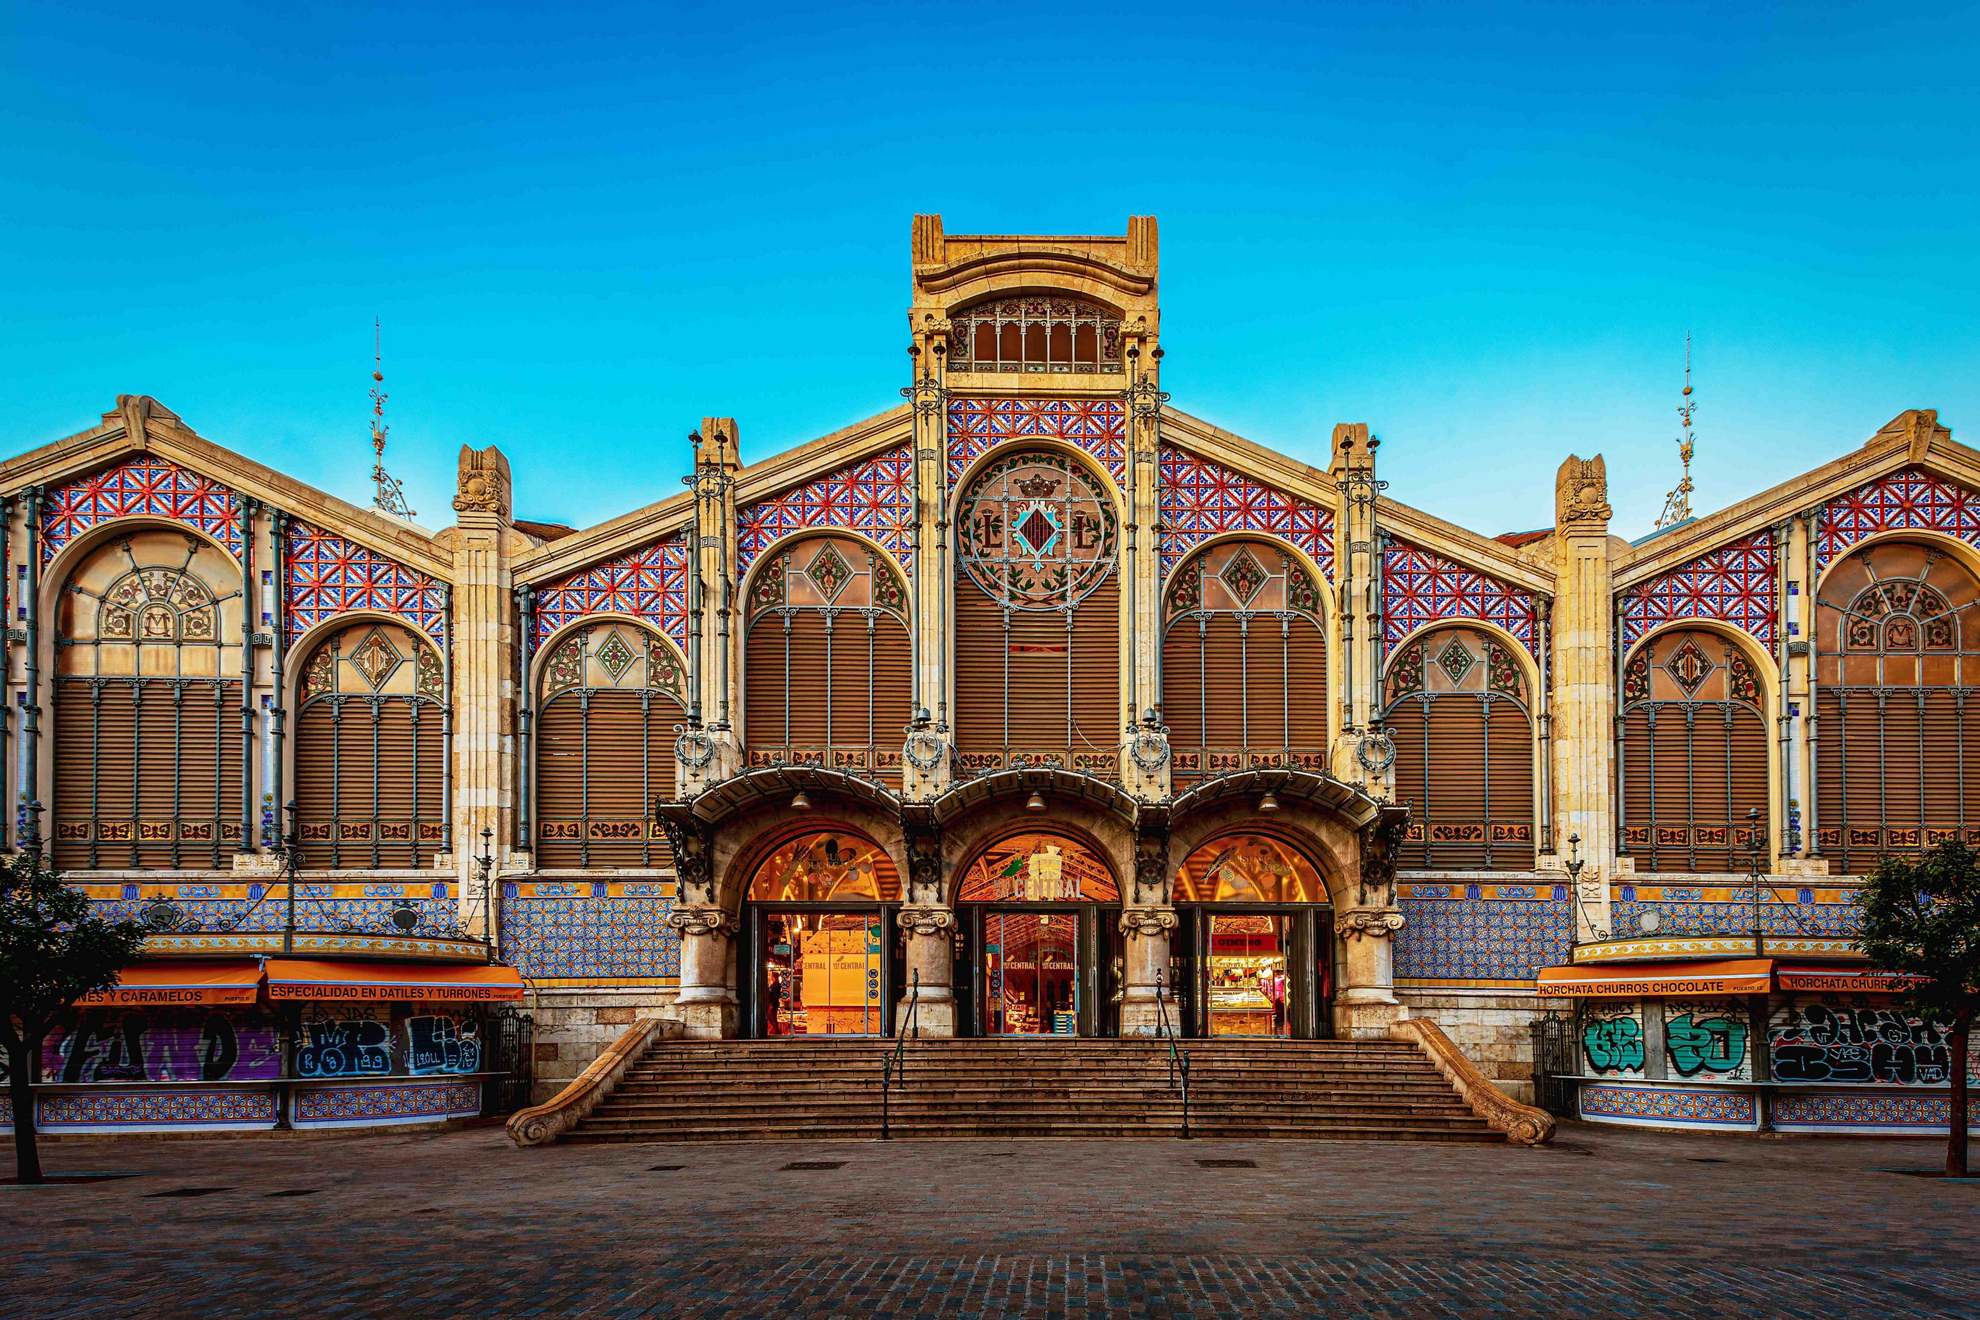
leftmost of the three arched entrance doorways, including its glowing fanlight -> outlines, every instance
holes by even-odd
[[[859,831],[814,827],[776,843],[742,906],[746,1033],[887,1035],[899,902],[893,859]]]

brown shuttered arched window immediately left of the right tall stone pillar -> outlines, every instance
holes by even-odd
[[[1396,740],[1396,800],[1412,801],[1398,865],[1531,871],[1533,707],[1497,637],[1439,627],[1388,663],[1382,724]]]

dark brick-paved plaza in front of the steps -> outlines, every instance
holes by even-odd
[[[1932,1142],[517,1150],[475,1128],[46,1156],[137,1176],[0,1189],[8,1316],[1980,1316],[1980,1183],[1877,1172]]]

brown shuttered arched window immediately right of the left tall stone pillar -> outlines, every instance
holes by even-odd
[[[638,623],[580,627],[543,663],[537,716],[537,865],[665,867],[653,803],[673,798],[685,677]]]

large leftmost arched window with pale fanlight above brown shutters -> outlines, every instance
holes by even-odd
[[[218,867],[240,845],[240,673],[224,550],[143,530],[75,566],[55,608],[55,867]]]

